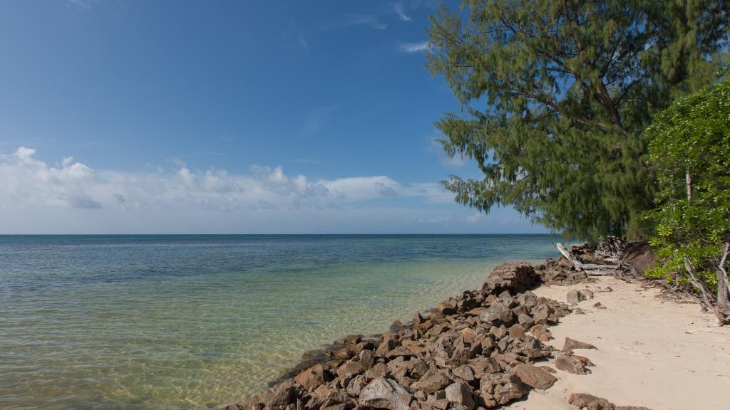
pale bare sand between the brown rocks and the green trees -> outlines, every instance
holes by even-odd
[[[578,376],[558,370],[553,387],[532,391],[527,400],[507,409],[576,409],[567,403],[573,392],[652,410],[730,409],[730,328],[713,326],[714,317],[700,312],[696,304],[657,298],[654,288],[612,277],[599,281],[535,291],[564,302],[571,289],[593,290],[595,298],[578,305],[586,314],[563,317],[550,328],[555,340],[548,342],[562,349],[568,336],[598,347],[575,351],[596,364],[593,373]],[[613,292],[600,292],[607,286]],[[596,302],[607,309],[593,308]]]

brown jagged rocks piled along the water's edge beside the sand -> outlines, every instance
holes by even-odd
[[[583,260],[602,260],[583,247],[574,252]],[[416,312],[411,323],[395,322],[378,338],[347,336],[310,352],[269,389],[223,409],[477,410],[507,405],[556,382],[555,370],[540,363],[550,361],[572,374],[591,372],[591,360],[574,350],[596,347],[569,338],[561,350],[544,343],[552,339],[550,326],[561,317],[583,312],[531,290],[594,280],[564,257],[537,267],[505,263],[480,290],[442,301],[425,317]],[[592,297],[590,290],[572,290],[566,301]],[[618,407],[580,392],[569,403],[577,409],[644,409]]]

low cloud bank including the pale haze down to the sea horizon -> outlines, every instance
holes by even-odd
[[[0,155],[0,233],[430,233],[515,223],[535,231],[510,214],[453,212],[437,182],[310,179],[256,165],[248,174],[108,171],[35,155]]]

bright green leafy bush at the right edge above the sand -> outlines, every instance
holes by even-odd
[[[690,283],[730,322],[730,80],[680,98],[645,136],[660,188],[650,244],[662,260],[648,274]]]

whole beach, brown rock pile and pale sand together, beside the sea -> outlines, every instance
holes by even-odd
[[[339,339],[225,409],[726,408],[730,328],[648,279],[573,265],[497,266],[480,289],[380,338]]]

